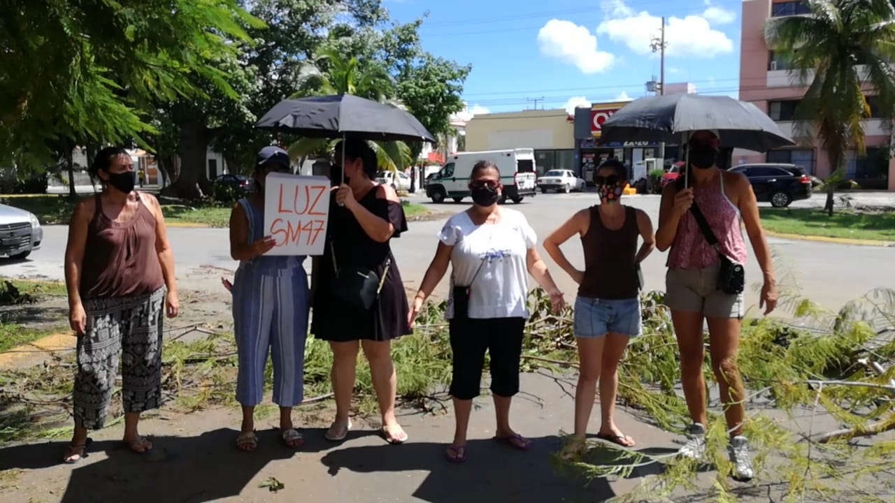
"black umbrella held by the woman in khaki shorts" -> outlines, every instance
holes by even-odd
[[[600,142],[686,142],[687,132],[700,130],[717,131],[725,147],[756,152],[795,145],[752,103],[700,94],[637,98],[602,124]]]

